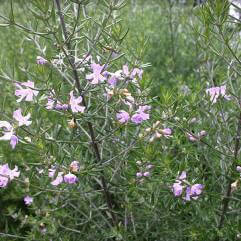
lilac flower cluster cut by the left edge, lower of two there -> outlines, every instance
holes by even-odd
[[[10,181],[15,177],[19,177],[19,175],[20,172],[17,166],[11,170],[8,164],[0,165],[0,188],[6,187]]]

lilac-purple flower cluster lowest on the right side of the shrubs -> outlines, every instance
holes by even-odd
[[[185,171],[176,179],[176,182],[172,185],[172,192],[175,197],[180,197],[186,189],[186,194],[183,196],[185,201],[191,201],[191,199],[198,199],[203,191],[204,186],[202,184],[190,185],[187,180],[187,174]]]

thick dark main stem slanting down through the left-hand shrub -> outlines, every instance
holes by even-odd
[[[70,52],[71,51],[71,44],[70,44],[70,39],[68,39],[68,33],[67,33],[65,21],[64,21],[64,16],[63,16],[62,11],[61,11],[60,1],[59,0],[55,0],[55,2],[56,2],[57,10],[58,10],[58,15],[59,15],[59,18],[60,18],[60,23],[61,23],[63,35],[64,35],[64,41],[66,42],[66,46],[67,46],[68,52]],[[82,103],[83,103],[83,105],[85,107],[87,107],[84,95],[82,94],[82,89],[81,89],[81,86],[80,86],[80,80],[79,80],[79,76],[78,76],[78,73],[77,73],[77,70],[76,70],[74,59],[71,56],[70,57],[67,56],[67,58],[68,58],[69,63],[71,65],[71,67],[72,67],[72,72],[73,72],[73,75],[74,75],[75,85],[76,85],[76,88],[77,88],[79,94],[82,97]],[[87,122],[87,125],[88,125],[88,129],[89,129],[89,133],[90,133],[90,137],[91,137],[91,144],[92,144],[92,147],[94,149],[94,154],[95,154],[97,163],[101,163],[101,156],[100,156],[100,151],[99,151],[98,144],[97,144],[96,139],[95,139],[94,128],[93,128],[91,122],[89,122],[89,121]],[[113,209],[113,200],[112,200],[112,198],[110,196],[110,192],[109,192],[109,190],[107,188],[107,184],[106,184],[106,180],[105,180],[103,171],[101,171],[101,178],[100,178],[100,180],[101,180],[101,185],[102,185],[102,188],[103,188],[104,197],[105,197],[108,209],[109,209],[110,214],[111,214],[112,225],[113,226],[117,226],[116,215],[114,214],[114,212],[112,210]]]

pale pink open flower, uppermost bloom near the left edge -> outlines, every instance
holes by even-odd
[[[30,88],[24,89],[22,86]],[[34,82],[32,81],[16,84],[16,87],[18,88],[18,90],[15,91],[15,95],[20,97],[17,102],[21,102],[23,99],[25,99],[25,101],[33,101],[33,97],[37,96],[39,93],[37,90],[33,90]]]

